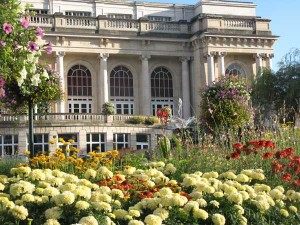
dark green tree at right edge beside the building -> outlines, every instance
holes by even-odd
[[[253,86],[253,106],[261,117],[273,111],[281,121],[294,121],[300,112],[300,50],[291,49],[280,61],[279,70],[264,70]]]

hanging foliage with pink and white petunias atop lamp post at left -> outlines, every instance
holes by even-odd
[[[42,29],[30,27],[29,12],[15,0],[0,5],[0,101],[13,112],[26,110],[29,102],[46,109],[61,99],[57,72],[39,62],[43,51],[52,52]]]

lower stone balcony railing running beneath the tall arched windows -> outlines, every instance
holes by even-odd
[[[95,113],[49,113],[46,115],[34,115],[34,120],[43,123],[65,123],[65,122],[97,122],[97,123],[114,123],[126,122],[131,117],[136,115],[102,115]],[[7,124],[12,122],[27,122],[28,115],[13,115],[0,114],[0,124]]]

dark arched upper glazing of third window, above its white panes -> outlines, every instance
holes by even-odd
[[[173,97],[172,75],[164,67],[158,67],[151,73],[151,97]]]

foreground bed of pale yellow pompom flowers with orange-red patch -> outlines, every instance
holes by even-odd
[[[261,169],[200,171],[172,180],[172,164],[105,166],[85,178],[60,170],[13,168],[0,176],[1,224],[299,224],[300,192],[270,187]]]

